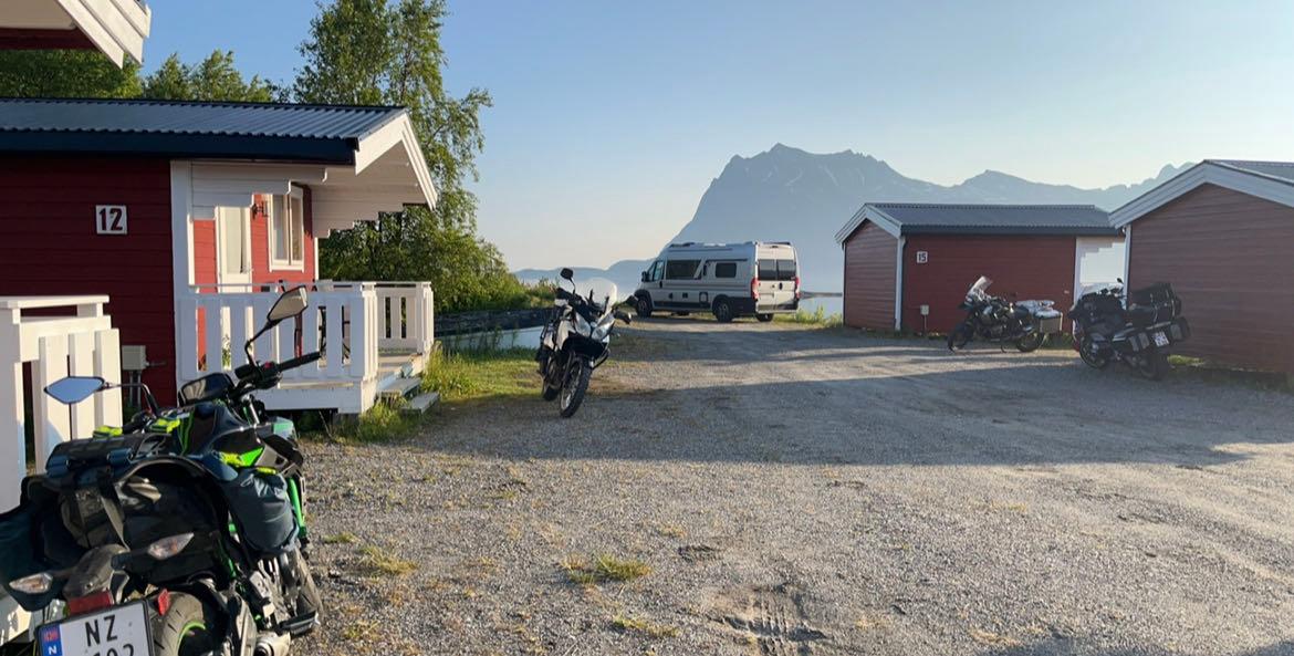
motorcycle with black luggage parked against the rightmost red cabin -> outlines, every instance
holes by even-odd
[[[1122,279],[1091,286],[1074,301],[1069,318],[1074,321],[1074,349],[1087,366],[1105,369],[1119,361],[1149,380],[1167,375],[1170,349],[1190,338],[1181,299],[1168,283],[1127,298]]]

